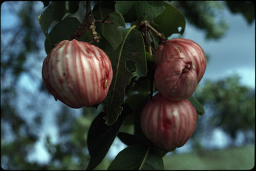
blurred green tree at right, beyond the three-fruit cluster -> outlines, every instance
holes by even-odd
[[[239,84],[234,75],[219,81],[206,81],[195,94],[197,99],[212,111],[207,126],[197,129],[198,133],[211,132],[211,128],[222,128],[233,140],[243,132],[243,143],[254,142],[255,89]],[[234,142],[234,141],[232,141]],[[233,145],[233,144],[231,144]]]

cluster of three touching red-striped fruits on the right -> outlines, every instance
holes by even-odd
[[[141,112],[141,128],[153,144],[171,150],[193,134],[197,112],[187,100],[206,69],[203,49],[189,39],[171,39],[155,51],[155,87],[159,91]]]

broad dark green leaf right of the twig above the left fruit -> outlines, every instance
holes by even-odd
[[[93,9],[93,15],[96,20],[103,20],[107,15],[111,13],[106,21],[113,21],[113,23],[96,23],[96,31],[102,35],[113,47],[113,50],[117,49],[123,41],[123,36],[117,27],[125,27],[125,20],[123,15],[115,9],[109,8],[109,5],[105,6],[105,3],[101,5],[95,5]]]

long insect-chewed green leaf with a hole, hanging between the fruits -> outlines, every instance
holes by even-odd
[[[125,38],[121,47],[115,51],[106,43],[101,42],[101,49],[109,56],[113,68],[113,80],[103,102],[104,111],[107,112],[104,118],[109,125],[117,120],[123,110],[121,105],[124,103],[125,88],[130,84],[131,79],[147,74],[143,37],[139,31],[133,28],[135,27],[121,30]],[[135,71],[129,71],[127,61],[135,63]]]

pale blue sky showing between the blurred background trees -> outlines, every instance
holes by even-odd
[[[1,6],[1,27],[11,27],[15,25],[17,18],[5,11],[5,3]],[[43,3],[39,2],[37,7],[43,9]],[[203,84],[207,79],[216,81],[237,73],[241,77],[242,85],[255,88],[255,21],[252,25],[247,25],[241,15],[231,15],[227,10],[224,11],[223,17],[225,17],[225,20],[229,23],[229,29],[225,37],[218,41],[206,41],[202,31],[195,29],[195,27],[189,25],[189,23],[186,25],[183,37],[197,42],[204,49],[205,53],[209,54],[211,57],[200,84]],[[175,35],[173,37],[175,37]],[[41,48],[42,51],[40,53],[46,56],[44,47],[42,46]],[[26,110],[24,107],[26,102],[24,100],[24,90],[33,91],[36,96],[38,95],[38,90],[36,88],[39,86],[39,83],[41,83],[42,63],[43,61],[39,61],[37,68],[34,69],[34,72],[39,79],[37,82],[31,81],[28,75],[22,75],[19,80],[19,88],[21,91],[19,92],[18,106],[20,110]],[[45,99],[47,99],[47,101],[45,101]],[[38,102],[45,102],[45,105],[56,104],[56,108],[49,108],[47,111],[43,108],[39,108],[39,110],[42,110],[45,114],[45,117],[43,118],[44,134],[42,135],[45,136],[46,134],[50,134],[51,137],[54,138],[53,142],[56,142],[57,130],[54,126],[55,121],[53,113],[63,104],[61,104],[61,102],[55,102],[54,98],[47,94],[39,95],[37,100]],[[72,110],[79,116],[81,110]],[[31,114],[31,116],[33,116],[33,114]],[[51,128],[51,131],[49,131],[49,128]],[[225,146],[228,142],[221,130],[216,130],[213,136],[215,137],[213,138],[215,141],[212,142],[212,146]],[[125,148],[125,146],[116,140],[109,155],[115,156],[122,148]],[[185,151],[186,148],[189,148],[189,144],[186,144],[182,149]],[[41,160],[42,162],[49,160],[49,158],[47,158],[47,153],[43,149],[42,141],[37,144],[36,149],[36,152],[31,156],[31,160],[37,160],[37,158],[42,158],[42,156],[45,156],[43,157],[43,160]]]

